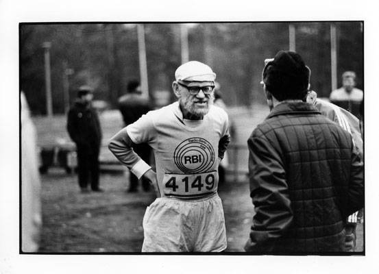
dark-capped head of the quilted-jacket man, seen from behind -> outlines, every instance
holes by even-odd
[[[307,95],[310,69],[301,56],[292,51],[279,51],[267,63],[263,71],[263,82],[267,90],[279,101],[304,100]]]

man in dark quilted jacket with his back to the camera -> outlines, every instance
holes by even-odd
[[[363,162],[349,132],[306,103],[309,77],[291,51],[263,70],[271,112],[247,141],[256,214],[246,251],[345,251],[345,220],[363,208]]]

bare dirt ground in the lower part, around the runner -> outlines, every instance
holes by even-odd
[[[104,192],[82,194],[76,175],[51,169],[42,175],[41,253],[138,253],[143,243],[143,214],[154,201],[152,192],[126,192],[123,172],[103,173]],[[243,252],[254,208],[248,184],[227,182],[223,201],[228,252]],[[358,225],[357,250],[363,250],[363,225]]]

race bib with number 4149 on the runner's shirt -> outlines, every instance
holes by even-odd
[[[193,199],[210,195],[217,190],[219,174],[206,173],[164,173],[163,192],[166,196]]]

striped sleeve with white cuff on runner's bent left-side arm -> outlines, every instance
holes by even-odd
[[[108,148],[139,179],[151,167],[134,152],[133,145],[134,142],[127,134],[127,128],[124,127],[110,139]]]

